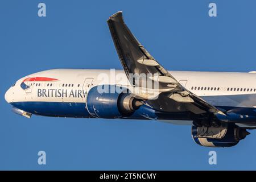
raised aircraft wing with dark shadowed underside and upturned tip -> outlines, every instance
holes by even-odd
[[[166,69],[162,67],[142,46],[123,21],[122,12],[118,11],[108,19],[109,30],[119,59],[129,78],[132,74],[152,74],[151,80],[158,82],[158,98],[146,103],[156,110],[191,111],[195,114],[222,113],[199,96],[185,89]],[[156,76],[154,76],[156,75]],[[129,79],[130,80],[130,79]],[[132,80],[131,84],[136,85]],[[143,95],[139,96],[143,98]]]

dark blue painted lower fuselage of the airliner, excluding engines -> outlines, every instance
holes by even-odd
[[[77,117],[93,118],[88,113],[85,103],[72,102],[13,102],[14,107],[31,114],[51,117]],[[256,109],[249,107],[226,107],[217,106],[219,109],[228,110],[228,116],[217,115],[222,121],[233,121],[241,123],[255,123]],[[166,113],[155,111],[151,107],[141,106],[127,119],[159,119],[159,120],[191,120],[189,113]]]

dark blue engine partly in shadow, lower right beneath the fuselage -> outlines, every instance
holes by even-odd
[[[192,126],[193,140],[206,147],[232,147],[249,134],[234,123],[222,123],[218,128]]]

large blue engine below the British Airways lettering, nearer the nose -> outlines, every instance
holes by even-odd
[[[126,117],[133,114],[141,105],[142,102],[134,98],[132,94],[127,93],[126,88],[115,85],[94,86],[89,90],[86,98],[86,108],[96,118]]]

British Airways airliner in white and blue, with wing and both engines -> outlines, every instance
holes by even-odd
[[[107,22],[123,70],[51,69],[22,77],[5,93],[14,113],[191,125],[192,139],[206,147],[235,146],[256,129],[255,71],[167,71],[122,11]]]

